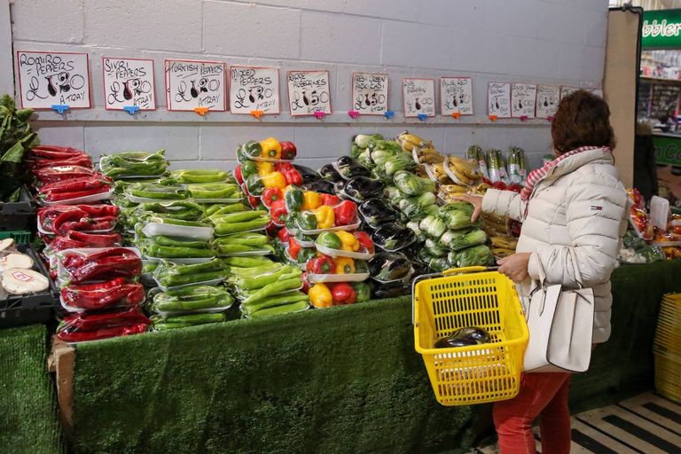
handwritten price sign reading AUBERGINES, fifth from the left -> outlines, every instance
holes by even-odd
[[[293,116],[331,114],[328,71],[289,71],[286,85]]]

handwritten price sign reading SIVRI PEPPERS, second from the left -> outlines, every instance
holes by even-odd
[[[123,110],[127,106],[156,110],[153,60],[104,57],[102,72],[107,110]]]

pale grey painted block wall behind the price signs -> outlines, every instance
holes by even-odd
[[[3,1],[3,0],[0,0]],[[521,146],[538,163],[548,152],[547,122],[487,119],[487,83],[536,82],[599,88],[607,0],[12,0],[14,51],[84,51],[90,55],[93,109],[70,120],[39,115],[43,143],[100,153],[166,148],[173,168],[233,168],[234,148],[268,136],[293,140],[300,162],[319,167],[348,151],[359,132],[394,136],[410,129],[442,152],[474,143]],[[103,106],[101,58],[154,60],[159,114],[120,119]],[[280,68],[282,114],[261,121],[215,115],[164,116],[163,60],[210,59]],[[285,72],[330,71],[335,112],[351,104],[354,71],[390,75],[391,110],[401,111],[403,77],[470,75],[474,121],[405,125],[377,118],[352,124],[293,119]],[[7,68],[9,69],[9,68]],[[9,71],[4,74],[10,74]],[[5,76],[6,79],[6,76]],[[437,90],[436,90],[437,91]],[[438,101],[439,102],[439,101]],[[438,109],[439,111],[439,109]],[[208,114],[210,117],[211,114]],[[230,115],[230,114],[226,114]],[[459,123],[459,124],[457,124]]]

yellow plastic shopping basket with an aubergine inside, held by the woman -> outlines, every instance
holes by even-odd
[[[469,405],[518,394],[528,325],[513,282],[484,267],[417,278],[412,292],[414,343],[423,356],[437,402]],[[492,342],[434,348],[458,328],[478,326]]]

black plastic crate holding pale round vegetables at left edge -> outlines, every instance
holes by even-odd
[[[59,290],[35,249],[23,245],[17,248],[21,253],[31,256],[34,269],[50,280],[50,287],[40,294],[10,295],[6,300],[0,300],[0,328],[51,324],[55,319],[55,310],[60,308]]]

